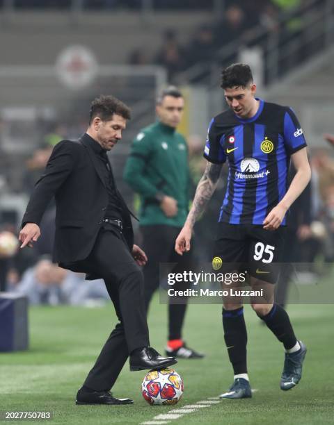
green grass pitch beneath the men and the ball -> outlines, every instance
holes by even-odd
[[[223,400],[170,424],[334,424],[333,305],[289,306],[296,335],[308,346],[301,383],[289,392],[279,388],[283,348],[250,306],[245,310],[248,372],[257,392],[252,399]],[[166,306],[156,297],[150,310],[150,339],[161,352],[166,342],[166,317]],[[149,406],[141,395],[145,372],[130,373],[128,363],[113,392],[116,397],[133,398],[134,405],[75,406],[77,389],[116,323],[111,304],[103,308],[35,307],[30,309],[29,322],[30,350],[0,353],[0,412],[51,410],[54,419],[45,421],[51,424],[140,424],[216,397],[232,383],[218,305],[189,306],[185,340],[207,356],[180,360],[176,365],[185,384],[177,406]]]

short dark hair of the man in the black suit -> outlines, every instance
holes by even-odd
[[[113,114],[131,119],[130,108],[116,97],[111,95],[96,97],[90,103],[89,124],[93,122],[95,117],[101,118],[102,121],[109,121],[113,118]]]

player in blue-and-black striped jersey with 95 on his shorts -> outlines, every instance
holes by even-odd
[[[301,379],[306,347],[297,340],[285,310],[274,303],[272,288],[287,211],[310,181],[305,138],[291,108],[255,97],[256,85],[248,65],[239,63],[223,69],[221,88],[229,110],[209,124],[204,152],[207,167],[175,250],[180,255],[189,251],[193,225],[212,197],[221,167],[228,160],[228,185],[218,215],[214,256],[231,270],[246,264],[251,287],[266,290],[265,301],[255,299],[251,303],[255,313],[283,343],[285,363],[280,388],[290,390]],[[287,188],[289,158],[296,175]],[[238,271],[244,268],[239,267]],[[223,329],[234,383],[221,398],[251,397],[241,300],[223,300]]]

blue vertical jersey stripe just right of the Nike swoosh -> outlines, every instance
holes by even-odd
[[[234,151],[234,163],[244,158],[244,126],[235,126],[234,134],[238,135],[238,149]],[[236,169],[234,172],[237,171]],[[234,180],[233,176],[232,180]],[[233,184],[233,181],[230,183]],[[246,179],[238,181],[238,184],[234,184],[234,192],[232,199],[232,213],[230,215],[230,224],[240,224],[240,218],[242,214],[243,197],[246,189]]]

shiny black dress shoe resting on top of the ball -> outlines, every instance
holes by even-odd
[[[135,350],[130,356],[130,370],[132,372],[143,369],[164,369],[177,363],[176,358],[162,357],[152,349],[152,347],[143,347]]]

